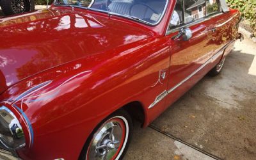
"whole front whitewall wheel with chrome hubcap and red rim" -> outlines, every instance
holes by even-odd
[[[132,136],[132,120],[126,111],[108,116],[86,141],[79,159],[122,159]]]

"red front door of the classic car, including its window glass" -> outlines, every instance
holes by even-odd
[[[213,49],[209,45],[209,23],[205,19],[205,0],[177,0],[173,15],[179,15],[180,22],[175,25],[172,19],[166,32],[170,42],[170,72],[168,95],[165,107],[170,106],[191,88],[208,71],[205,66],[211,59]],[[198,11],[198,6],[202,11]],[[176,12],[176,13],[175,13]],[[179,31],[187,28],[192,32],[189,40],[179,36]]]

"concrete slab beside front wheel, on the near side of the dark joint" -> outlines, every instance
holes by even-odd
[[[198,152],[195,148],[180,143],[156,129],[151,127],[141,129],[138,123],[134,128],[131,145],[124,159],[213,160],[212,157]]]

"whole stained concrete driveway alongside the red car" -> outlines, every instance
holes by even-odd
[[[205,76],[147,129],[125,159],[256,159],[256,44],[236,42],[223,72]]]

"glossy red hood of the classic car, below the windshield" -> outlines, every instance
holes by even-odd
[[[0,19],[0,93],[38,72],[150,36],[81,9],[52,8]]]

